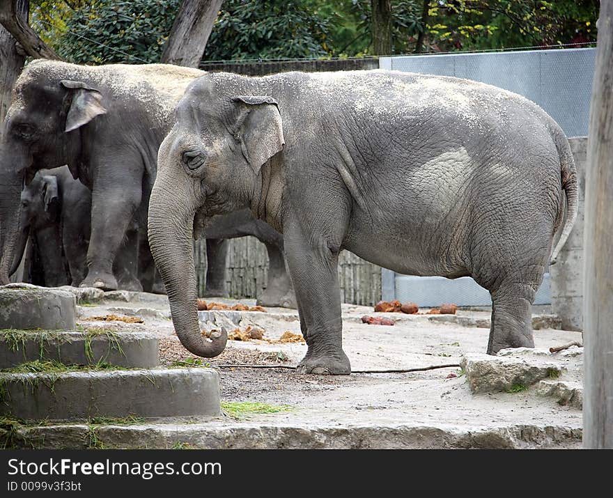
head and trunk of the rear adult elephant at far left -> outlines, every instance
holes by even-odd
[[[0,284],[8,283],[13,263],[22,187],[37,170],[63,164],[78,178],[82,127],[106,112],[98,90],[57,79],[44,61],[17,79],[0,141]]]

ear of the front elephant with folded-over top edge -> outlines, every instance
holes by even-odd
[[[283,120],[279,104],[272,97],[238,95],[233,102],[245,107],[236,123],[242,155],[256,173],[262,165],[283,150]]]

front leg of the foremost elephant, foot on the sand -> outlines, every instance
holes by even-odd
[[[284,232],[288,266],[300,313],[302,335],[309,349],[298,364],[298,373],[348,375],[349,359],[343,351],[341,292],[338,253],[323,240],[313,244],[311,237],[298,231]]]

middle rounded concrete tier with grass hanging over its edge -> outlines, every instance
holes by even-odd
[[[0,331],[0,368],[37,359],[153,368],[159,364],[158,339],[144,332]]]

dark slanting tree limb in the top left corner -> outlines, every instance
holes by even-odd
[[[29,1],[0,0],[0,24],[13,35],[15,40],[20,42],[29,56],[61,61],[62,58],[53,49],[47,47],[45,42],[29,26],[28,16],[23,15],[24,4],[27,13]]]

